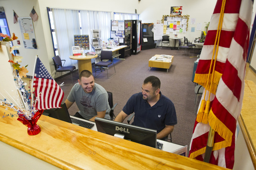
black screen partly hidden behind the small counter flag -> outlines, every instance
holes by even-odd
[[[44,110],[43,115],[48,115],[49,117],[59,119],[68,123],[72,123],[70,115],[66,108],[66,103],[62,102],[61,107],[62,108],[53,108],[49,110]]]

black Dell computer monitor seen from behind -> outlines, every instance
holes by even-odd
[[[156,148],[156,130],[95,118],[98,132],[112,136],[124,136],[124,139]]]

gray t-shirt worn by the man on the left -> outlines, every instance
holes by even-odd
[[[97,115],[97,111],[106,110],[106,119],[110,119],[110,106],[108,104],[108,94],[106,90],[97,83],[94,83],[93,91],[85,93],[81,85],[76,83],[67,97],[68,101],[75,102],[79,108],[79,114],[84,119],[91,119]]]

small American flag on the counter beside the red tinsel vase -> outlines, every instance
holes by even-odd
[[[38,57],[35,64],[33,88],[35,88],[35,97],[38,98],[35,103],[36,110],[61,108],[64,93]]]

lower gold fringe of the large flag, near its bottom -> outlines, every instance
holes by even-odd
[[[209,125],[212,127],[212,129],[217,132],[225,141],[219,142],[214,144],[213,148],[214,150],[218,150],[221,148],[225,148],[228,146],[231,146],[232,142],[232,136],[233,133],[230,131],[229,128],[225,126],[224,123],[222,123],[210,110],[209,117],[208,117]]]

